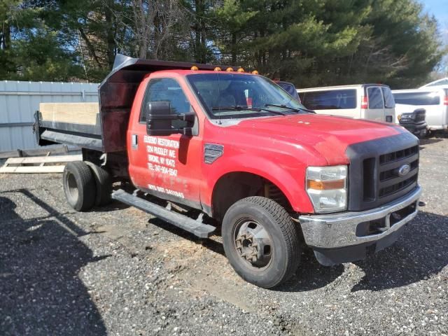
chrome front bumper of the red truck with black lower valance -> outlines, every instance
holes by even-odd
[[[319,260],[323,265],[335,265],[339,262],[363,259],[363,254],[350,253],[378,243],[378,246],[388,246],[398,239],[403,226],[412,220],[418,212],[418,200],[421,187],[416,186],[407,195],[398,200],[384,204],[376,209],[360,212],[344,212],[341,214],[299,216],[305,243],[318,251],[328,254],[339,250],[339,257],[332,261]],[[385,244],[387,243],[387,244]],[[384,248],[383,247],[383,248]],[[379,251],[381,248],[376,248]],[[334,253],[330,253],[332,255]],[[338,253],[336,253],[338,254]],[[353,254],[353,255],[351,255]],[[342,255],[345,255],[344,257]],[[323,262],[322,262],[323,261]]]

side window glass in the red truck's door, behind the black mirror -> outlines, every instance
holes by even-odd
[[[149,102],[169,102],[172,113],[190,112],[190,102],[179,83],[172,78],[151,79],[146,87],[143,105],[141,106],[140,122],[146,123],[146,106]],[[174,127],[186,127],[186,121],[174,120]]]

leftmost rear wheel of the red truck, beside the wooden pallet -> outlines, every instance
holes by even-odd
[[[92,209],[97,194],[90,168],[83,161],[69,162],[62,176],[67,202],[76,211]]]

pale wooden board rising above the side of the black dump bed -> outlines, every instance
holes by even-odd
[[[41,103],[41,120],[53,123],[95,125],[99,113],[98,103]]]

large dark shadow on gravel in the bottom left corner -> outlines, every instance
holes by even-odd
[[[0,335],[106,335],[78,278],[81,267],[104,257],[93,257],[78,239],[86,232],[68,218],[28,190],[14,192],[50,216],[25,221],[8,193],[0,196]]]

